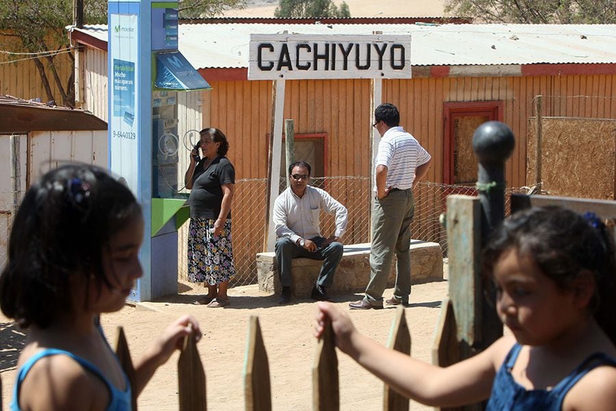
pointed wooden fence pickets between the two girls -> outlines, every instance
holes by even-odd
[[[405,310],[399,307],[392,325],[388,347],[409,355],[411,335],[405,319]],[[257,316],[251,316],[248,324],[248,345],[244,364],[244,395],[246,411],[272,410],[270,369],[265,343]],[[131,384],[134,369],[129,347],[122,327],[118,329],[116,353]],[[194,336],[185,337],[177,363],[178,396],[180,411],[207,410],[205,371],[196,347]],[[336,411],[340,409],[338,358],[331,323],[326,324],[323,337],[318,341],[312,365],[312,409]],[[0,405],[1,408],[1,405]],[[137,410],[137,398],[133,391],[133,410]],[[408,411],[409,399],[402,397],[385,385],[383,411]]]

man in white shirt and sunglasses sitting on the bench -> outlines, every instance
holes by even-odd
[[[303,257],[322,260],[323,265],[312,289],[311,298],[329,300],[327,288],[333,284],[336,267],[342,258],[343,246],[339,242],[348,221],[346,207],[324,190],[308,185],[311,166],[296,161],[289,166],[290,187],[274,203],[276,229],[276,262],[282,292],[280,304],[291,301],[291,263]],[[320,233],[319,214],[323,210],[335,214],[336,229],[329,238]]]

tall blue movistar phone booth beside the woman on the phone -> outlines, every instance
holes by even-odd
[[[129,299],[177,292],[177,229],[190,213],[178,192],[177,93],[209,84],[179,52],[177,1],[108,1],[109,169],[140,201],[144,275]],[[183,146],[183,147],[182,147]]]

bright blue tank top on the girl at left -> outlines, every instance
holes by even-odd
[[[110,403],[109,403],[109,406],[107,407],[107,411],[130,411],[131,410],[131,385],[125,373],[123,374],[124,374],[124,379],[126,382],[126,390],[120,391],[105,377],[105,375],[103,375],[103,373],[101,373],[101,371],[99,371],[99,369],[97,369],[96,366],[94,366],[94,364],[92,364],[88,360],[75,356],[75,354],[70,353],[69,351],[64,351],[62,349],[48,348],[48,349],[39,351],[34,356],[31,356],[31,358],[29,358],[29,360],[27,360],[27,362],[23,364],[23,366],[21,366],[21,368],[19,369],[17,373],[17,381],[15,382],[15,385],[13,387],[13,401],[11,402],[11,408],[10,408],[11,411],[21,411],[21,408],[19,408],[19,388],[21,386],[21,383],[25,379],[28,371],[30,371],[30,369],[32,368],[32,366],[43,357],[57,356],[57,355],[64,355],[64,356],[73,358],[73,360],[77,361],[81,366],[84,367],[84,369],[90,371],[91,373],[99,377],[103,383],[105,383],[110,393]]]

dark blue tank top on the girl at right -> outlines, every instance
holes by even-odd
[[[516,343],[507,354],[498,373],[496,373],[486,410],[560,411],[565,395],[580,378],[595,367],[602,365],[616,366],[616,360],[613,358],[604,353],[594,353],[551,390],[526,390],[526,388],[517,384],[513,375],[511,375],[511,369],[513,369],[520,349],[522,349],[522,346]]]

